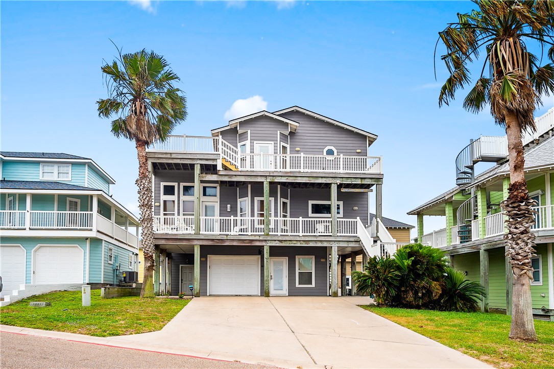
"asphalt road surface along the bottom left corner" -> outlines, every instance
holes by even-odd
[[[0,367],[8,368],[263,368],[168,353],[0,332]]]

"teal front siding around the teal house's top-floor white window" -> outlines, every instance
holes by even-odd
[[[57,163],[57,162],[48,162]],[[59,163],[67,163],[60,161]],[[76,186],[85,186],[85,164],[71,164],[71,181],[60,181],[63,183],[75,184]],[[40,162],[30,161],[3,161],[2,178],[7,181],[40,181]]]

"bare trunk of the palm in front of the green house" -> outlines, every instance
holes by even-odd
[[[512,324],[510,339],[536,341],[535,324],[531,302],[533,278],[531,257],[534,255],[535,234],[530,227],[535,223],[534,202],[529,198],[525,181],[521,125],[517,116],[506,114],[506,136],[510,163],[510,187],[508,198],[502,202],[502,209],[509,217],[508,233],[504,236],[507,244],[506,256],[514,273],[512,291]]]

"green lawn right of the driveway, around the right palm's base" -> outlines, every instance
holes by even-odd
[[[362,306],[497,368],[552,368],[554,322],[535,320],[538,343],[511,341],[510,316]]]

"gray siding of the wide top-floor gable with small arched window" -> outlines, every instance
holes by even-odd
[[[281,116],[299,123],[298,130],[290,134],[291,150],[300,147],[300,152],[305,154],[322,155],[326,146],[334,146],[337,149],[337,155],[367,155],[367,138],[364,135],[321,121],[302,112],[290,111]],[[357,153],[358,149],[362,152]]]

